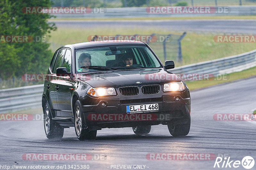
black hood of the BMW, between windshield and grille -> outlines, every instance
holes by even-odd
[[[90,84],[92,87],[124,87],[164,84],[180,81],[176,74],[164,68],[126,69],[76,74],[76,79]],[[137,83],[139,84],[137,84]]]

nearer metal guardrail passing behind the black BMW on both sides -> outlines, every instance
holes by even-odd
[[[168,70],[175,74],[228,74],[256,66],[256,50],[204,61],[196,64],[176,67]],[[41,107],[43,84],[0,90],[0,113],[13,112],[22,109]]]

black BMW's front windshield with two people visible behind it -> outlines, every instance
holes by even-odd
[[[76,71],[156,68],[161,64],[147,46],[115,45],[76,50]]]

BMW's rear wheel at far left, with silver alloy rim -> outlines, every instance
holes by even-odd
[[[44,132],[48,139],[62,138],[64,133],[64,128],[52,120],[48,102],[44,104]]]

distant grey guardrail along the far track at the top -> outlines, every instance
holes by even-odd
[[[189,6],[188,6],[189,7]],[[187,8],[188,8],[187,7]],[[197,6],[194,6],[197,7]],[[198,6],[199,7],[199,6]],[[167,12],[167,9],[163,9],[160,7],[160,11],[157,9],[155,12],[150,13],[149,7],[131,7],[131,8],[103,8],[92,9],[91,13],[56,13],[53,14],[57,18],[143,18],[143,17],[178,17],[178,16],[211,16],[211,15],[256,15],[256,6],[205,6],[210,7],[211,13],[198,13],[197,11],[194,13],[190,12],[176,12],[171,13]],[[64,7],[63,7],[64,8]],[[156,8],[156,7],[155,7]],[[174,7],[175,8],[175,7]],[[214,10],[214,8],[216,10]],[[149,11],[148,11],[149,10]],[[162,12],[162,11],[163,12]],[[188,10],[187,10],[188,11]],[[193,11],[193,10],[192,10]],[[200,9],[199,9],[200,11]],[[161,13],[159,13],[161,12]]]

